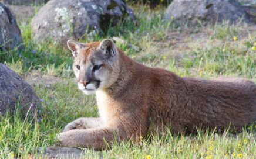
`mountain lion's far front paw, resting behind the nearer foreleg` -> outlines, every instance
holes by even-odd
[[[100,118],[81,117],[73,122],[68,123],[68,125],[65,126],[63,132],[67,132],[73,129],[90,129],[99,126],[102,126]]]

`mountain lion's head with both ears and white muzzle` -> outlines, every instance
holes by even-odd
[[[79,43],[68,40],[68,48],[75,57],[73,71],[78,88],[85,94],[93,94],[97,89],[110,87],[119,75],[119,52],[112,40]]]

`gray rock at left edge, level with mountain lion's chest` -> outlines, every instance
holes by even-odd
[[[19,102],[22,110],[32,114],[40,106],[40,100],[29,84],[18,74],[0,63],[0,115],[13,113]]]

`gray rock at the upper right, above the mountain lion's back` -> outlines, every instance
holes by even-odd
[[[247,8],[235,0],[174,0],[164,15],[165,19],[177,19],[193,22],[200,19],[204,22],[222,22],[224,19],[234,23],[243,18],[244,22],[252,22],[246,12]]]

